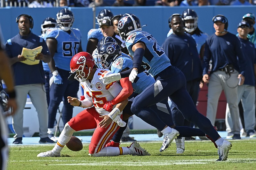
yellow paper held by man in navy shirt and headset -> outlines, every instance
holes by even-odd
[[[35,57],[37,54],[41,53],[42,49],[42,46],[36,47],[34,49],[28,49],[23,47],[21,55],[24,56],[27,60],[21,62],[28,65],[39,64],[40,60],[36,60]]]

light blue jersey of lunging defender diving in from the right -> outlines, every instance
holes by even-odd
[[[142,65],[151,75],[155,77],[158,73],[171,65],[164,50],[158,45],[155,38],[150,33],[139,31],[128,36],[125,44],[129,54],[132,56],[134,56],[132,46],[137,42],[143,42],[146,45]]]

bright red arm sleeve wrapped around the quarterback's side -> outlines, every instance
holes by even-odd
[[[133,88],[132,83],[129,81],[129,78],[122,78],[120,80],[120,84],[123,89],[113,100],[111,100],[112,105],[116,105],[117,103],[127,99],[129,96],[132,95]]]

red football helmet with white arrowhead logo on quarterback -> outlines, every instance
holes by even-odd
[[[94,65],[94,59],[91,54],[80,52],[71,59],[70,70],[71,73],[76,72],[75,78],[79,82],[84,82],[89,77]]]

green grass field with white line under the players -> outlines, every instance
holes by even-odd
[[[89,144],[84,144],[82,151],[73,152],[66,146],[61,157],[37,158],[40,152],[52,150],[54,144],[10,146],[8,170],[169,170],[169,169],[256,169],[256,138],[229,140],[233,147],[228,160],[216,162],[219,158],[217,149],[211,141],[185,141],[185,152],[176,154],[176,144],[172,142],[168,149],[159,152],[162,142],[140,142],[151,156],[123,155],[115,157],[88,156]],[[128,146],[123,143],[120,146]]]

